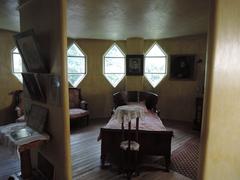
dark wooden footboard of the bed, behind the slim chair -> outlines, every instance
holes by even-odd
[[[106,159],[119,157],[122,134],[120,129],[101,128],[101,166],[105,167]],[[127,132],[126,132],[127,134]],[[132,132],[132,136],[135,131]],[[169,170],[171,162],[171,140],[173,131],[144,131],[139,130],[140,157],[145,155],[164,156],[165,167]]]

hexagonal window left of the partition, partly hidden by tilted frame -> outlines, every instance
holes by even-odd
[[[12,73],[22,83],[22,57],[15,47],[12,52]]]

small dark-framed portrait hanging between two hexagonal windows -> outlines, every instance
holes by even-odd
[[[142,76],[143,75],[143,55],[127,55],[126,56],[126,75]]]

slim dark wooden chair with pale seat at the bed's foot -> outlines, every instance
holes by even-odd
[[[131,130],[131,121],[128,122],[128,129],[124,129],[124,120],[122,121],[122,142],[120,143],[121,149],[121,165],[120,169],[127,174],[127,179],[130,180],[133,173],[139,174],[139,149],[138,142],[139,118],[136,118],[136,129]]]

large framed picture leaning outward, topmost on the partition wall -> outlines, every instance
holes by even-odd
[[[15,42],[28,72],[47,73],[33,30],[14,35]]]

